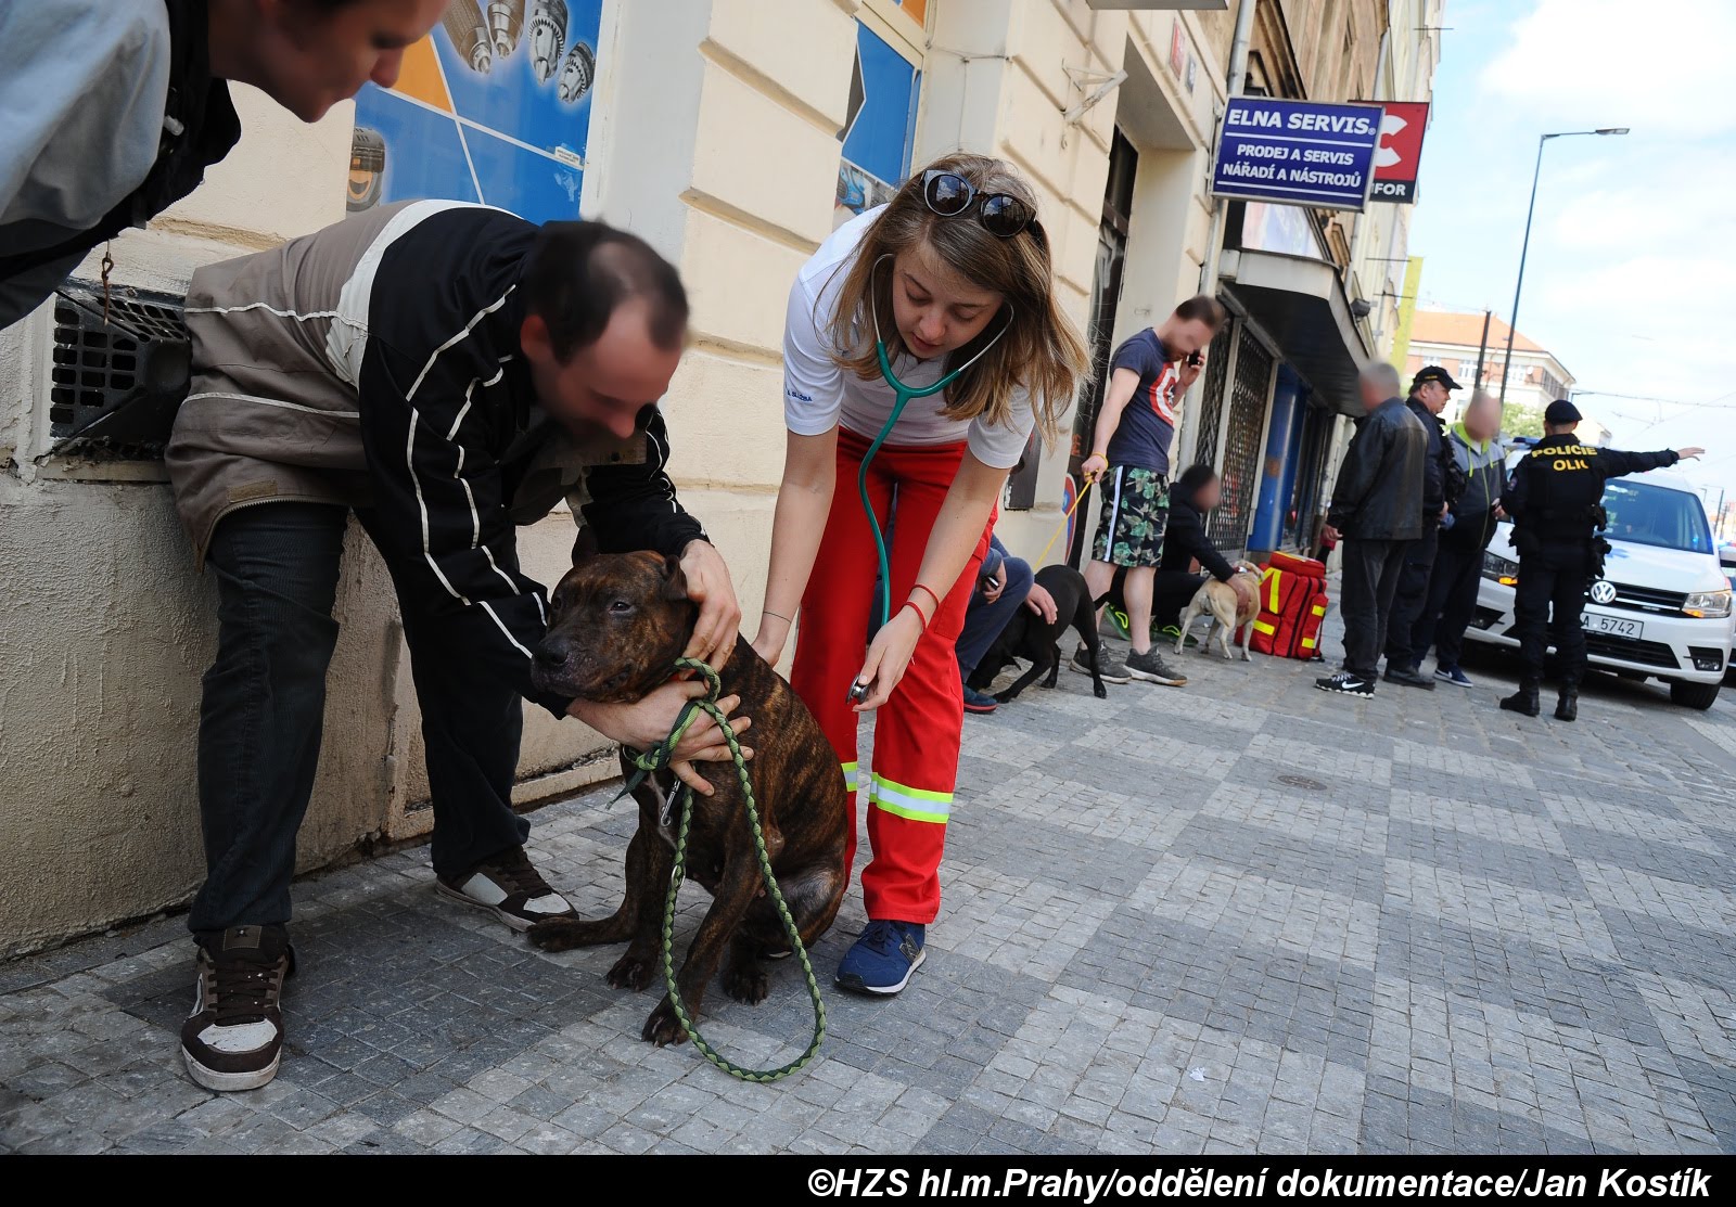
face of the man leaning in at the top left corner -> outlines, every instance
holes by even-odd
[[[404,49],[422,38],[448,0],[257,0],[247,59],[248,83],[302,121],[318,121],[370,80],[398,82]]]

